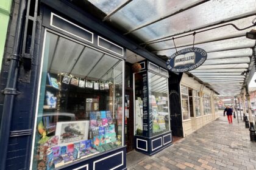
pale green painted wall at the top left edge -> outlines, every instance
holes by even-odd
[[[2,57],[4,55],[4,44],[9,24],[11,5],[12,0],[0,1],[0,70],[2,67]]]

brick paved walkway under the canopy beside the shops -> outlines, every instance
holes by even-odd
[[[221,116],[128,169],[256,169],[256,142],[249,130],[242,120],[228,124],[226,119]]]

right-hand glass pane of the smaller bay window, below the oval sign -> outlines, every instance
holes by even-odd
[[[155,73],[149,75],[149,112],[152,112],[152,135],[169,131],[168,79]],[[157,83],[160,80],[161,83]]]

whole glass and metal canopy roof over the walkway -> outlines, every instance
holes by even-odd
[[[176,52],[175,45],[206,50],[205,63],[188,74],[218,94],[240,94],[255,72],[255,40],[245,36],[256,29],[255,0],[88,1],[105,13],[102,21],[163,60]]]

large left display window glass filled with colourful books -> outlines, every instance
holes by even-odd
[[[123,146],[124,61],[46,32],[32,169]]]

